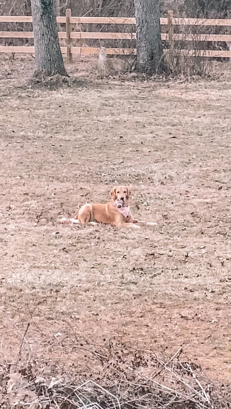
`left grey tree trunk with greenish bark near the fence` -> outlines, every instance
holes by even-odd
[[[53,0],[31,0],[35,47],[34,76],[67,76],[60,50]]]

